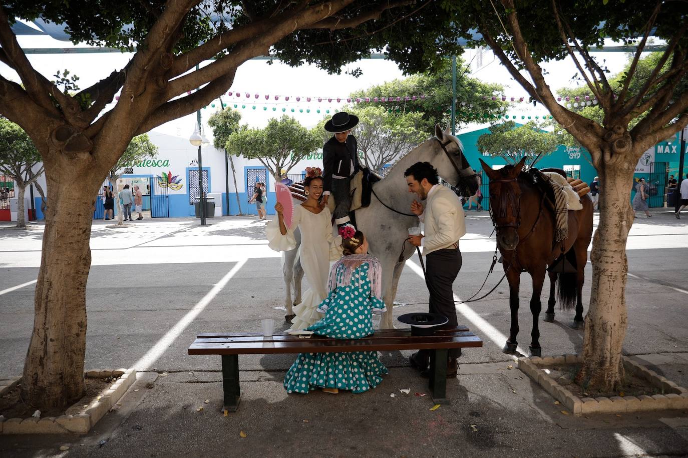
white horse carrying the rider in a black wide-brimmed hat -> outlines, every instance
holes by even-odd
[[[477,175],[464,157],[460,140],[451,135],[449,129],[442,132],[440,124],[435,126],[434,137],[401,157],[385,178],[373,185],[374,195],[371,196],[370,205],[356,210],[356,228],[367,238],[369,253],[378,258],[383,266],[383,292],[387,312],[380,319],[380,329],[394,328],[392,305],[396,287],[405,261],[415,252],[415,247],[405,240],[409,234],[408,228],[418,226],[418,217],[411,215],[411,201],[416,195],[408,192],[404,172],[416,162],[433,164],[440,177],[458,188],[464,197],[475,194],[478,186]],[[301,201],[294,199],[294,205],[299,204]],[[292,306],[301,303],[303,268],[298,257],[301,244],[299,230],[295,231],[295,235],[297,248],[282,254],[287,319],[294,313]]]

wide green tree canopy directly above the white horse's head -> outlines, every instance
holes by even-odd
[[[502,94],[504,87],[493,83],[482,83],[477,78],[467,74],[466,64],[462,58],[456,59],[456,125],[467,124],[476,120],[485,120],[502,112],[509,102],[502,102],[501,98],[492,100],[496,94]],[[444,58],[436,68],[420,74],[413,74],[402,80],[391,80],[382,85],[375,85],[368,89],[354,91],[352,100],[360,98],[356,107],[376,106],[385,107],[391,113],[405,113],[418,111],[422,118],[430,125],[439,122],[443,126],[451,120],[452,94],[451,59]],[[418,98],[424,95],[425,98]],[[416,96],[416,100],[406,100]],[[401,100],[396,100],[399,97]],[[369,102],[365,102],[369,98]],[[378,102],[373,102],[378,98]],[[380,102],[382,98],[393,98],[393,101]],[[430,132],[430,131],[429,131]]]

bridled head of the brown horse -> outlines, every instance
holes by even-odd
[[[497,230],[497,246],[506,251],[515,250],[521,226],[521,187],[517,178],[526,164],[526,157],[516,165],[499,170],[493,170],[482,159],[480,164],[490,179],[490,215]]]

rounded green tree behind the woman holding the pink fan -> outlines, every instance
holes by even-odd
[[[244,127],[229,135],[225,150],[233,155],[259,160],[279,182],[283,178],[281,171],[288,173],[297,162],[320,148],[321,140],[319,133],[284,115],[279,120],[272,118],[265,129]]]

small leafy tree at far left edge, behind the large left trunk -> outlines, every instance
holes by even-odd
[[[8,175],[17,183],[17,227],[26,227],[24,216],[24,193],[27,186],[35,183],[45,169],[41,155],[27,133],[14,122],[0,117],[0,173]],[[41,190],[41,195],[43,195]]]

